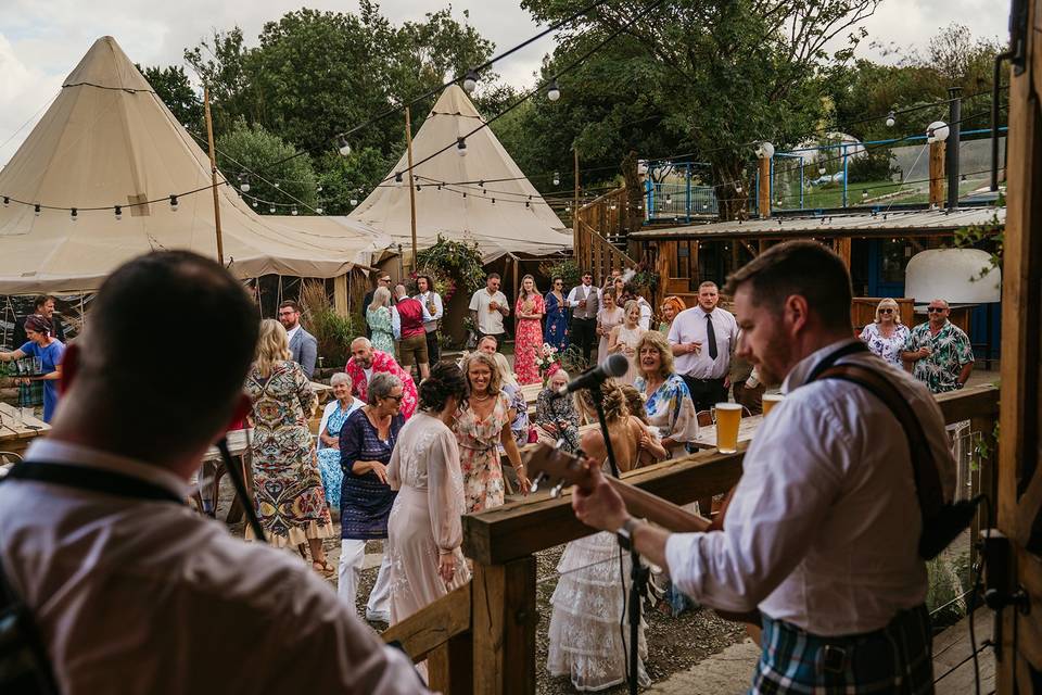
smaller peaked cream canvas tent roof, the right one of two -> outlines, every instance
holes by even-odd
[[[450,146],[414,169],[416,184],[420,186],[416,192],[418,248],[433,245],[437,235],[475,241],[485,262],[506,253],[548,255],[571,248],[571,232],[564,229],[492,129],[481,128],[468,135],[483,123],[467,93],[452,85],[442,92],[416,134],[414,162],[421,162]],[[465,136],[467,156],[460,156],[456,143]],[[403,154],[389,178],[407,168],[408,157]],[[484,194],[478,181],[486,181]],[[409,190],[407,180],[405,182],[396,186],[392,180],[378,186],[351,213],[350,219],[371,225],[391,236],[395,244],[408,249],[411,228]],[[442,184],[441,190],[439,184]]]

